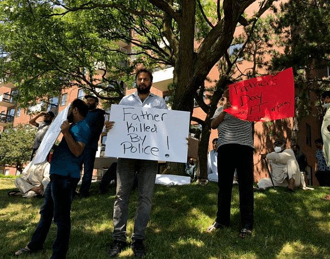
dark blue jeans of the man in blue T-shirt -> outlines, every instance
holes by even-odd
[[[51,175],[45,189],[45,200],[40,208],[40,221],[28,244],[31,250],[40,250],[45,243],[50,225],[54,218],[57,227],[51,259],[65,259],[70,239],[70,210],[72,192],[79,179]]]

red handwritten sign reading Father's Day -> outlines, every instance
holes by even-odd
[[[225,112],[247,121],[269,121],[295,116],[292,68],[275,76],[261,76],[229,85],[232,107]]]

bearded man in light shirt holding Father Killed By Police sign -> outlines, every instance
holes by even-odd
[[[149,70],[138,70],[135,76],[137,92],[123,97],[119,102],[119,105],[167,109],[163,98],[150,93],[152,79],[153,76]],[[112,126],[113,122],[106,122],[107,130],[110,130]],[[117,190],[113,212],[114,240],[108,250],[110,256],[116,256],[122,249],[125,249],[128,246],[126,242],[128,202],[136,170],[138,171],[139,199],[135,215],[131,248],[136,257],[142,257],[145,253],[143,240],[146,238],[145,231],[151,212],[152,193],[155,186],[157,166],[158,162],[154,160],[118,158]]]

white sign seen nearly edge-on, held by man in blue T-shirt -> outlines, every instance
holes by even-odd
[[[50,152],[50,149],[54,145],[56,139],[58,138],[61,132],[60,126],[65,120],[67,120],[69,107],[70,104],[66,107],[66,109],[61,111],[52,121],[52,123],[49,125],[49,128],[42,142],[40,143],[37,153],[33,158],[33,164],[42,163],[46,160],[47,155]]]

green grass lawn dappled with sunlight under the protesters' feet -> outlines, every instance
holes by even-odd
[[[0,259],[14,258],[12,252],[24,247],[39,220],[42,198],[27,200],[7,196],[14,189],[13,179],[0,179]],[[247,239],[238,237],[240,225],[238,187],[233,188],[232,217],[229,228],[211,234],[205,229],[214,221],[217,210],[217,184],[207,186],[156,185],[153,209],[147,228],[147,253],[143,258],[240,258],[299,259],[330,258],[330,202],[320,198],[328,187],[298,189],[293,194],[284,188],[255,193],[255,228]],[[74,199],[71,212],[71,243],[68,259],[111,258],[107,249],[112,242],[114,188],[97,195]],[[128,236],[132,234],[137,191],[131,195]],[[20,256],[46,259],[51,256],[56,228],[52,225],[43,251]],[[129,238],[130,241],[130,238]],[[131,249],[117,258],[133,258]]]

